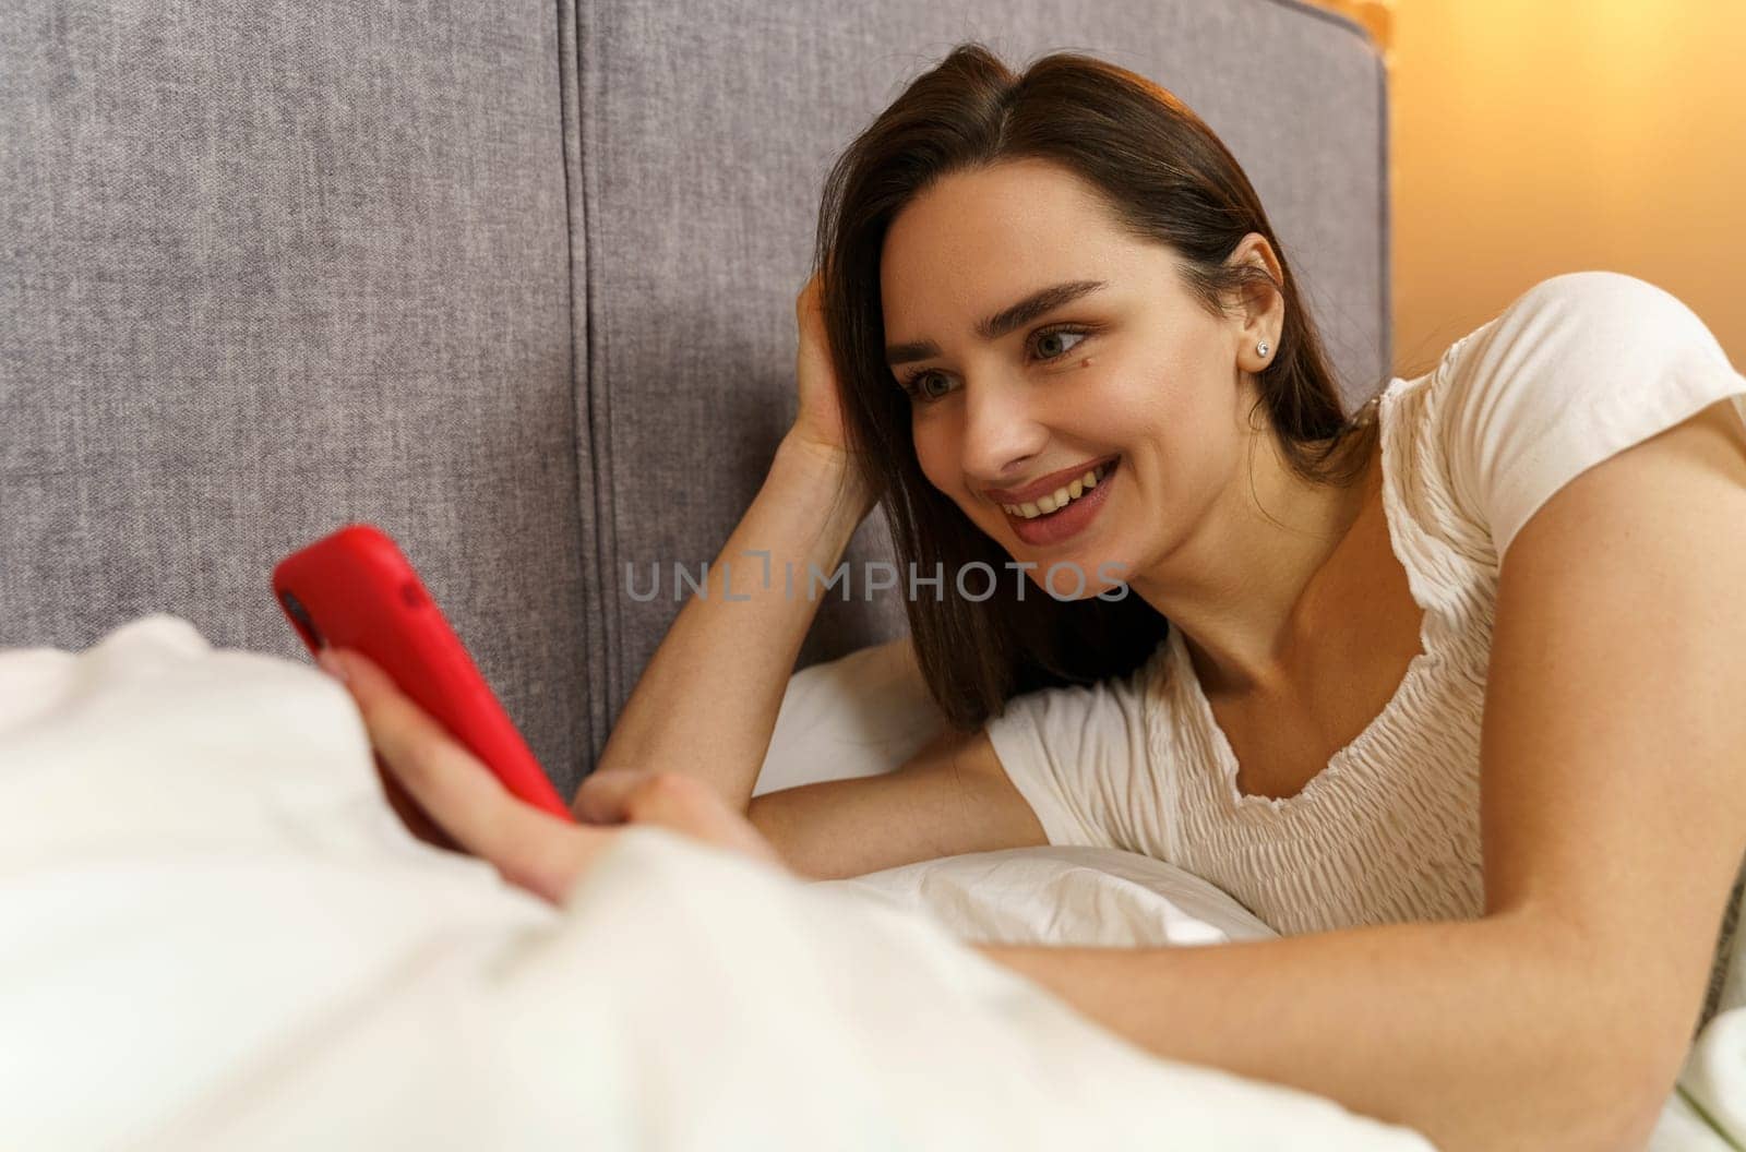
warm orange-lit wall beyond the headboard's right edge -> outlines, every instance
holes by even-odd
[[[1395,372],[1578,269],[1660,285],[1746,367],[1746,3],[1327,7],[1388,44]]]

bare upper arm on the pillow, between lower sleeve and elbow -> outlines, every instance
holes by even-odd
[[[814,880],[1049,841],[986,730],[943,731],[896,771],[766,792],[747,817]]]

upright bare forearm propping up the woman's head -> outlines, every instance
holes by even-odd
[[[838,503],[840,485],[845,499]],[[693,595],[679,611],[595,768],[697,777],[744,812],[819,609],[808,595],[808,566],[828,578],[871,503],[849,482],[847,457],[784,438],[758,497],[709,569],[707,597]],[[768,586],[765,557],[754,555],[761,552],[770,553]],[[784,564],[793,566],[793,590]]]

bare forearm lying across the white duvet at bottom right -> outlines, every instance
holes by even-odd
[[[1605,950],[1519,913],[1200,948],[976,948],[1154,1056],[1327,1096],[1442,1152],[1641,1150],[1671,1091],[1646,1094],[1619,1042],[1634,1002],[1596,970]]]

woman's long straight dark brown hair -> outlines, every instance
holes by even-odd
[[[885,365],[880,251],[892,220],[941,176],[1013,159],[1051,161],[1098,189],[1119,227],[1163,244],[1212,314],[1271,276],[1226,260],[1250,232],[1273,244],[1285,300],[1278,354],[1257,377],[1282,456],[1303,478],[1350,485],[1364,473],[1374,422],[1353,422],[1285,251],[1231,152],[1180,99],[1151,80],[1077,52],[1014,75],[976,42],[960,44],[838,157],[824,182],[814,271],[842,386],[847,447],[878,496],[897,569],[945,573],[936,597],[904,599],[934,702],[959,731],[981,726],[1018,693],[1126,675],[1170,621],[1128,592],[1058,600],[1030,586],[1011,557],[922,475],[910,400]],[[985,600],[955,595],[957,574],[986,564]],[[911,567],[913,566],[913,567]],[[938,567],[936,567],[938,566]],[[980,595],[985,574],[964,586]],[[925,585],[918,585],[927,588]],[[1027,593],[1020,600],[1020,593]]]

